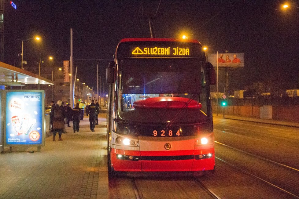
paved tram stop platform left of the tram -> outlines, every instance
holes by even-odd
[[[72,126],[72,122],[71,122]],[[0,154],[0,198],[108,198],[106,113],[99,114],[95,132],[88,118],[80,131],[66,127],[63,141],[46,133],[37,147],[9,147]],[[29,153],[34,151],[34,153]]]

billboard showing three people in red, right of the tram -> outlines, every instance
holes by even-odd
[[[208,54],[208,62],[212,63],[214,67],[227,68],[242,68],[244,67],[244,53],[218,53]]]

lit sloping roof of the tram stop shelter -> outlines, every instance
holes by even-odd
[[[16,81],[13,81],[16,80]],[[0,62],[0,85],[50,84],[54,82],[37,74]]]

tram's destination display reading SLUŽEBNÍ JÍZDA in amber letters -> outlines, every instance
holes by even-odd
[[[201,57],[200,45],[183,42],[161,42],[129,45],[122,48],[127,57]]]

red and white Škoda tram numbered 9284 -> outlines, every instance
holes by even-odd
[[[110,173],[214,169],[215,70],[198,41],[122,39],[106,82]]]

